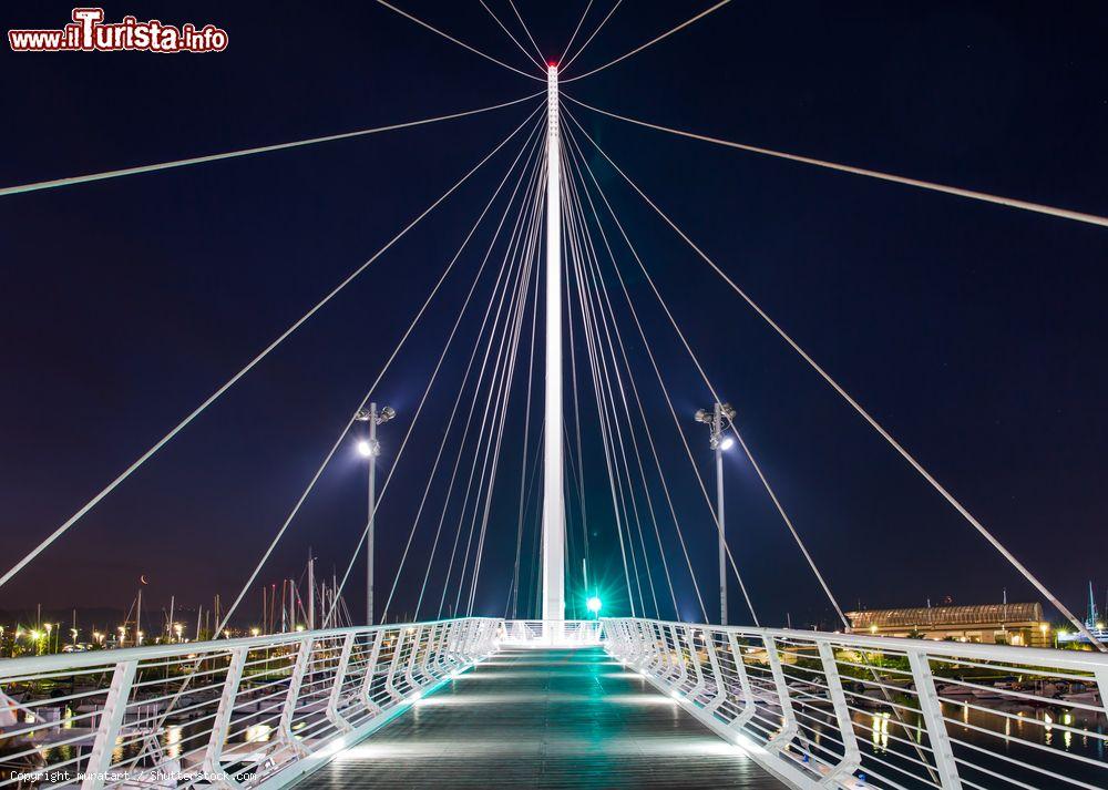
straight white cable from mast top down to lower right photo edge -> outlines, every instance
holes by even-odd
[[[884,427],[881,425],[881,423],[879,423],[865,409],[863,409],[861,407],[861,404],[856,400],[854,400],[847,392],[847,390],[844,390],[842,388],[841,384],[839,384],[838,381],[835,381],[833,378],[831,378],[831,375],[828,373],[822,367],[820,367],[820,365],[818,362],[815,362],[815,360],[812,359],[812,357],[807,351],[804,351],[804,349],[801,348],[800,345],[796,340],[793,340],[792,337],[790,335],[788,335],[773,319],[771,319],[769,317],[769,315],[765,310],[762,310],[762,308],[759,307],[758,304],[746,294],[746,291],[743,291],[741,288],[739,288],[738,285],[736,285],[735,280],[732,280],[727,274],[725,274],[724,270],[720,269],[719,266],[717,266],[716,263],[711,258],[709,258],[707,256],[707,254],[705,254],[705,252],[702,249],[700,249],[700,247],[698,247],[693,242],[693,239],[690,239],[685,234],[685,232],[681,230],[674,223],[674,220],[670,219],[654,203],[654,201],[652,201],[649,197],[647,197],[646,193],[644,193],[638,187],[638,185],[635,184],[635,182],[633,182],[630,179],[630,177],[626,173],[624,173],[623,170],[620,170],[619,166],[615,162],[612,161],[612,157],[608,156],[604,152],[603,148],[601,148],[601,146],[596,143],[596,141],[593,140],[588,135],[588,132],[585,131],[585,129],[577,122],[577,120],[575,117],[573,117],[573,115],[571,115],[570,113],[566,113],[566,114],[574,122],[574,124],[577,126],[577,129],[581,130],[581,133],[585,135],[585,137],[588,140],[588,142],[591,142],[593,144],[593,146],[601,153],[601,155],[608,162],[608,164],[611,164],[612,167],[620,176],[623,176],[624,181],[626,181],[632,186],[632,188],[634,188],[635,192],[638,193],[638,195],[647,203],[647,205],[649,205],[650,208],[653,208],[658,214],[658,216],[660,216],[666,222],[666,224],[669,225],[669,227],[671,227],[674,229],[674,232],[676,232],[677,235],[680,236],[693,248],[693,250],[696,252],[696,254],[705,263],[707,263],[708,266],[711,267],[711,269],[717,275],[719,275],[720,278],[722,278],[724,281],[727,283],[731,287],[731,289],[736,294],[738,294],[739,297],[741,297],[742,300],[746,301],[747,305],[749,305],[750,308],[752,310],[755,310],[755,312],[757,312],[762,318],[762,320],[765,320],[773,329],[773,331],[776,331],[778,334],[778,336],[781,337],[782,340],[784,340],[790,346],[790,348],[792,348],[793,351],[796,351],[806,362],[808,362],[809,367],[811,367],[812,370],[814,370],[817,373],[819,373],[820,377],[835,392],[838,392],[839,396],[843,400],[845,400],[847,403],[849,403],[850,407],[852,409],[854,409],[854,411],[856,411],[859,413],[859,415],[861,415],[862,419],[864,419],[870,424],[870,427],[873,428],[873,430],[875,430],[881,435],[882,439],[884,439],[890,444],[890,447],[892,447],[905,461],[907,461],[909,464],[916,472],[919,472],[919,474],[925,481],[927,481],[931,484],[931,486],[935,491],[937,491],[938,494],[943,499],[945,499],[951,504],[951,506],[953,506],[966,520],[966,522],[968,522],[970,525],[973,526],[982,535],[982,537],[984,537],[989,543],[989,545],[992,545],[1002,556],[1004,556],[1012,564],[1012,566],[1015,567],[1020,573],[1020,575],[1023,575],[1024,578],[1026,578],[1028,582],[1030,582],[1032,585],[1039,592],[1039,594],[1042,594],[1043,596],[1045,596],[1067,619],[1069,619],[1069,622],[1073,623],[1077,627],[1077,629],[1083,635],[1085,635],[1085,637],[1087,639],[1089,639],[1090,644],[1095,645],[1097,647],[1097,649],[1099,649],[1101,653],[1108,653],[1108,647],[1106,647],[1096,636],[1092,635],[1092,633],[1085,625],[1085,623],[1083,623],[1080,619],[1078,619],[1077,616],[1074,615],[1074,613],[1070,612],[1069,608],[1066,607],[1066,605],[1063,604],[1058,599],[1058,597],[1054,595],[1054,593],[1051,593],[1049,589],[1047,589],[1047,587],[1042,582],[1039,582],[1039,579],[1030,571],[1028,571],[1027,567],[1025,567],[1023,563],[1020,563],[1018,560],[1016,560],[1016,557],[1012,554],[1012,552],[1009,552],[1004,546],[1004,544],[1002,544],[999,542],[999,540],[997,540],[993,535],[993,533],[991,533],[987,529],[985,529],[984,524],[982,524],[979,521],[977,521],[977,519],[972,513],[970,513],[970,511],[966,510],[966,507],[958,500],[956,500],[954,497],[954,495],[950,491],[947,491],[931,474],[931,472],[929,472],[926,469],[924,469],[923,464],[921,464],[915,459],[915,456],[913,456],[907,450],[905,450],[904,447],[900,442],[897,442],[895,439],[893,439],[892,434],[889,433],[889,431],[886,431],[884,429]],[[587,163],[586,163],[586,166],[587,166]]]

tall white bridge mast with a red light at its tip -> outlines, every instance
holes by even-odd
[[[546,73],[546,423],[543,447],[543,620],[561,642],[565,620],[565,502],[562,485],[562,161],[557,66]]]

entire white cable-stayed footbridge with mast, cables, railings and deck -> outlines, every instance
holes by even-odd
[[[471,229],[305,481],[296,504],[261,547],[215,633],[224,633],[328,464],[359,437],[372,470],[367,521],[337,589],[325,603],[322,623],[335,622],[343,591],[351,598],[360,595],[353,571],[366,552],[368,622],[316,628],[312,605],[307,627],[290,622],[285,633],[0,663],[0,786],[276,788],[302,781],[948,790],[1108,784],[1102,720],[1108,658],[1098,634],[679,227],[664,201],[647,194],[620,165],[618,152],[603,147],[579,119],[585,113],[604,116],[724,150],[875,178],[890,183],[889,188],[927,191],[935,193],[934,199],[986,202],[1059,222],[1104,226],[1108,219],[720,140],[566,94],[564,89],[572,91],[575,81],[663,42],[709,17],[726,0],[602,65],[577,71],[577,57],[619,2],[595,18],[589,3],[554,62],[546,62],[534,45],[514,4],[516,23],[505,23],[486,6],[526,58],[523,68],[476,50],[412,12],[379,2],[538,84],[522,98],[465,112],[0,189],[0,197],[19,199],[19,194],[40,189],[208,165],[476,114],[515,114],[511,132],[491,141],[483,157],[462,165],[460,177],[437,199],[0,577],[3,584],[27,572],[350,283],[371,277],[373,264],[397,242],[419,233],[433,212],[447,211],[451,196],[474,174],[501,167],[503,175],[476,207]],[[636,244],[634,226],[615,211],[608,196],[614,185],[640,198],[688,246],[693,259],[733,291],[737,305],[750,309],[1099,650],[762,627],[742,581],[738,552],[728,542],[721,476],[717,473],[711,492],[683,425],[690,415],[678,413],[671,383],[653,351],[661,332],[676,339],[712,399],[711,409],[697,419],[710,429],[717,466],[728,447],[742,452],[842,630],[851,624],[833,594],[833,581],[821,572],[802,529],[739,431],[725,393],[709,378],[710,366],[652,276],[649,250]],[[479,230],[490,234],[483,248],[471,244]],[[466,279],[464,264],[471,258],[475,265]],[[647,304],[633,295],[632,279],[645,285],[649,307],[660,311],[655,314],[660,319],[640,315]],[[408,429],[378,489],[376,431],[388,417],[378,410],[378,387],[404,353],[413,330],[432,316],[442,317],[435,299],[445,289],[460,289],[464,297],[458,311],[445,316],[441,352],[417,408],[406,415]],[[478,324],[475,332],[463,328],[468,321]],[[455,348],[461,337],[472,337],[472,347]],[[646,377],[632,362],[636,351]],[[435,445],[399,567],[379,587],[372,562],[377,512],[394,473],[403,469],[406,451],[414,452],[409,440],[424,407],[430,408],[435,384],[443,388],[439,377],[450,368],[448,360],[464,360],[464,372],[454,386],[444,435]],[[647,388],[665,404],[660,415],[644,398]],[[522,453],[515,456],[504,440],[510,417],[521,410]],[[360,423],[366,423],[366,433]],[[676,458],[659,450],[657,431],[663,428],[674,431],[680,443],[684,452]],[[595,456],[586,452],[583,433],[598,438]],[[520,465],[519,490],[510,492],[519,504],[513,523],[494,516],[502,462]],[[696,514],[681,512],[687,497],[671,490],[678,465],[686,475],[691,472],[686,482],[694,499],[704,500]],[[586,468],[603,470],[608,506],[601,515],[587,512]],[[529,550],[525,526],[532,521],[540,526]],[[601,598],[609,596],[595,578],[601,563],[589,547],[597,524],[615,533],[614,564],[622,575],[612,597],[623,598],[624,616],[601,616],[606,614]],[[707,525],[718,540],[718,586],[716,579],[704,585],[694,570],[686,541],[694,524]],[[418,541],[430,543],[422,567],[410,551]],[[515,546],[513,566],[494,571],[511,576],[504,609],[495,613],[480,611],[479,604],[491,541]],[[749,626],[727,625],[731,579]],[[419,591],[414,617],[389,622],[397,619],[401,586]],[[677,589],[686,586],[699,613],[695,623],[681,617]],[[529,615],[532,619],[525,618]],[[1057,708],[1063,687],[1068,712],[1054,718],[1047,711]],[[1092,746],[1074,750],[1075,738]]]

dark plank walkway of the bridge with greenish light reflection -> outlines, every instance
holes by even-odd
[[[297,786],[470,787],[784,786],[599,648],[500,653]]]

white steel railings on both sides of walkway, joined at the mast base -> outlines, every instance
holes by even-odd
[[[790,787],[1108,786],[1108,761],[1068,750],[1078,737],[1108,746],[1102,726],[1034,715],[1064,705],[1102,721],[1098,653],[465,618],[0,661],[0,787],[29,770],[68,772],[85,790],[160,773],[176,787],[281,787],[500,647],[550,647],[555,634],[556,647],[603,645]],[[1063,686],[1086,690],[1063,704]],[[1043,730],[1057,738],[1036,738]]]

